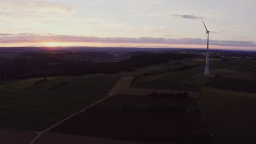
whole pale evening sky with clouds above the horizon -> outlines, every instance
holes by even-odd
[[[0,47],[256,50],[255,0],[0,0]]]

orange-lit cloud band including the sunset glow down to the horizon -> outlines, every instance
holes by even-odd
[[[135,47],[186,47],[186,48],[205,48],[206,39],[167,39],[167,38],[101,38],[85,37],[75,35],[54,35],[54,34],[0,34],[0,44],[3,45],[39,45],[45,46],[46,43],[57,43],[59,46],[135,46]],[[18,45],[18,46],[19,46]],[[230,40],[210,40],[211,48],[214,49],[256,49],[253,41],[230,41]]]

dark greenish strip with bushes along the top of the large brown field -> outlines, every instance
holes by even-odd
[[[174,92],[170,92],[174,93]],[[179,92],[181,93],[181,92]],[[158,93],[161,94],[161,93]],[[175,93],[178,94],[178,93]],[[200,94],[200,93],[195,93]],[[189,95],[192,96],[190,93]],[[199,95],[197,95],[199,96]],[[97,105],[98,107],[105,107],[115,110],[120,109],[128,109],[128,110],[149,110],[153,109],[154,106],[178,106],[178,107],[185,107],[185,109],[196,111],[199,109],[199,105],[197,104],[197,99],[195,98],[186,98],[186,99],[178,99],[178,98],[168,98],[168,97],[150,97],[147,95],[127,95],[125,93],[121,93],[115,95],[108,100],[103,101],[101,104]],[[154,111],[154,110],[152,110]]]

